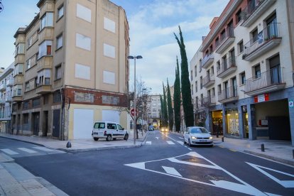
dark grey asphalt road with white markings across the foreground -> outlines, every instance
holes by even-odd
[[[158,131],[141,148],[15,159],[69,195],[294,195],[293,167]]]

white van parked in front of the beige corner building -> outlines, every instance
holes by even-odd
[[[128,140],[129,132],[116,122],[97,121],[94,123],[92,137],[94,141],[98,141],[99,138],[106,138],[107,141],[111,141],[111,138],[113,140],[116,138]]]

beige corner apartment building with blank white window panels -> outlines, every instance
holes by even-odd
[[[14,134],[91,138],[94,121],[127,127],[129,24],[108,0],[40,0],[18,28]]]

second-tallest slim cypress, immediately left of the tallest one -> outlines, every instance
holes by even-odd
[[[177,67],[175,69],[175,83],[173,85],[173,108],[175,111],[175,131],[180,132],[180,70],[177,57]]]

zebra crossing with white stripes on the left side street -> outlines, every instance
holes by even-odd
[[[19,147],[19,148],[0,148],[0,152],[5,153],[11,157],[19,156],[40,156],[56,153],[65,153],[55,149],[46,148],[43,146],[30,146],[30,147]]]

